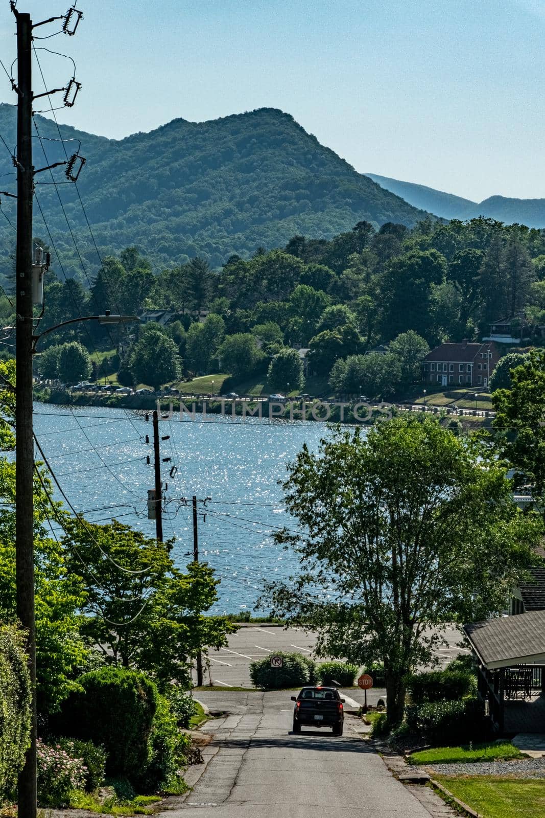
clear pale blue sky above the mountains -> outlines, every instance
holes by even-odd
[[[18,0],[35,21],[66,0]],[[78,0],[83,91],[60,121],[121,138],[176,117],[293,115],[362,173],[545,197],[545,0]],[[8,2],[0,53],[15,38]],[[56,30],[44,26],[37,34]],[[47,28],[47,31],[46,31]],[[71,66],[41,52],[52,87]],[[38,77],[37,77],[38,81]],[[0,101],[14,102],[7,79]]]

